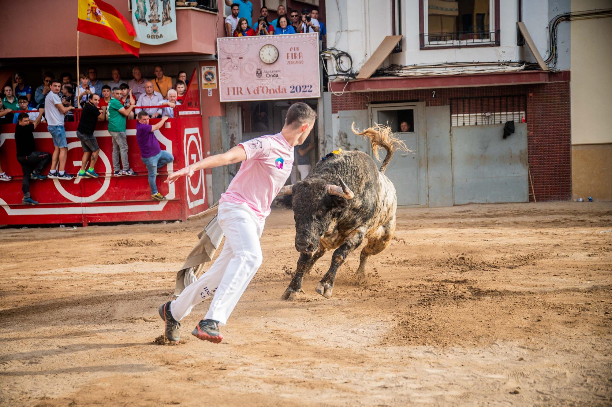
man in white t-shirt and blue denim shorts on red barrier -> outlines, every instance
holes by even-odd
[[[51,157],[51,169],[47,178],[58,178],[58,180],[72,180],[72,175],[64,171],[66,158],[68,157],[68,143],[64,130],[64,114],[74,109],[74,106],[64,106],[59,98],[59,90],[62,83],[58,79],[51,81],[51,92],[45,97],[45,117],[47,118],[47,130],[53,138],[53,156]],[[58,170],[59,161],[59,172]]]

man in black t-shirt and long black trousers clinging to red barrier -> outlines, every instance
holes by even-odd
[[[30,180],[46,180],[45,175],[40,174],[43,168],[51,160],[51,154],[36,151],[34,143],[34,129],[42,119],[45,109],[41,108],[39,117],[30,123],[28,113],[20,113],[17,117],[15,126],[15,149],[17,150],[17,161],[21,164],[23,171],[23,181],[21,181],[21,191],[23,191],[23,204],[37,205],[38,202],[30,195]]]

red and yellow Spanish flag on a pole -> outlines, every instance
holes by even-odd
[[[133,39],[136,31],[132,24],[117,9],[102,0],[78,0],[76,29],[118,42],[125,51],[138,56],[140,42]]]

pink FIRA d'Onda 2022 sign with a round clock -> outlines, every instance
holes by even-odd
[[[318,98],[318,33],[217,39],[221,101]]]

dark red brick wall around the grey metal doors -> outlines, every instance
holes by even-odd
[[[432,91],[436,98],[432,98]],[[332,113],[367,109],[367,103],[425,101],[427,106],[450,104],[450,98],[526,95],[529,168],[538,201],[572,199],[571,123],[569,82],[545,84],[454,87],[448,89],[384,90],[332,94]],[[450,120],[450,118],[449,118]],[[530,200],[531,185],[529,189]]]

